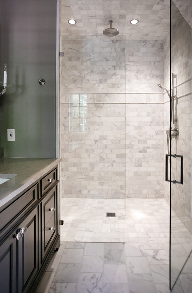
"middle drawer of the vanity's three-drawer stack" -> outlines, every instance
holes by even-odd
[[[47,225],[48,221],[51,219],[55,213],[57,207],[56,203],[56,187],[51,190],[50,195],[47,195],[44,200],[42,200],[42,209],[43,209],[43,228]]]

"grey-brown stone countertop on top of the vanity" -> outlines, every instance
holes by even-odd
[[[0,184],[0,211],[16,199],[16,196],[36,182],[61,159],[0,158],[0,174],[10,180]],[[7,174],[10,174],[7,175]],[[1,178],[1,175],[0,175]]]

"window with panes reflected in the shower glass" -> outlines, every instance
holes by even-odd
[[[86,131],[87,127],[87,95],[72,94],[71,131]]]

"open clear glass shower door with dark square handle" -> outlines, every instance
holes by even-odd
[[[182,155],[184,162],[183,185],[174,184],[180,179],[180,159],[171,157],[171,221],[170,221],[170,288],[180,274],[192,272],[192,188],[191,188],[191,27],[171,3],[171,127],[178,128],[177,137],[172,131],[171,154]],[[187,265],[186,265],[187,263]]]

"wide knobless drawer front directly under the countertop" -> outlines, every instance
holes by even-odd
[[[0,231],[12,226],[22,211],[28,210],[38,200],[38,183],[25,192],[8,208],[0,213]]]

